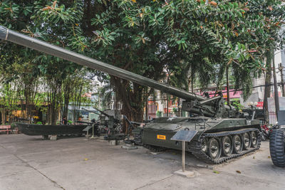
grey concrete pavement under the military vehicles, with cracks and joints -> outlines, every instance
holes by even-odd
[[[272,165],[269,142],[220,165],[187,155],[193,178],[173,174],[180,159],[178,151],[128,151],[100,139],[0,134],[0,189],[285,189],[285,169]]]

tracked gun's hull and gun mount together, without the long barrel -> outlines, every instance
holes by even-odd
[[[182,110],[195,117],[159,117],[134,130],[135,141],[152,151],[181,149],[181,142],[171,138],[180,130],[190,130],[196,134],[186,144],[186,151],[211,164],[220,164],[260,147],[259,120],[239,118],[242,115],[234,107],[224,105],[222,95],[185,101]]]

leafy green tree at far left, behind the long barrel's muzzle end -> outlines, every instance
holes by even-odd
[[[83,51],[86,48],[85,39],[82,37],[79,23],[83,16],[82,1],[66,1],[65,4],[58,4],[58,1],[0,1],[0,23],[17,31],[26,33],[35,38],[41,38],[49,43],[55,43],[58,46],[72,49],[73,51]],[[21,58],[22,63],[29,63],[30,70],[23,70],[19,73],[12,73],[11,78],[26,75],[29,82],[31,79],[43,78],[48,92],[48,102],[51,124],[56,123],[56,113],[61,107],[61,86],[68,73],[74,73],[81,69],[80,65],[46,56],[43,53],[27,50],[15,44],[1,44],[1,55],[6,56],[6,63],[2,62],[4,72],[9,70],[9,64],[16,62]],[[25,73],[26,72],[26,73]],[[24,80],[25,81],[25,80]],[[29,104],[31,84],[26,84],[26,105]],[[28,90],[28,91],[27,91]],[[31,99],[33,100],[33,99]]]

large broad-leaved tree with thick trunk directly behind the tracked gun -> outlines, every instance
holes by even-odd
[[[225,68],[229,68],[236,89],[242,88],[247,98],[254,77],[251,73],[261,72],[264,41],[272,35],[266,30],[266,18],[257,12],[259,3],[95,1],[88,6],[97,14],[89,14],[87,20],[91,23],[95,55],[107,63],[155,80],[165,78],[163,73],[168,68],[172,84],[186,89],[183,84],[187,83],[189,70],[192,81],[199,75],[199,83],[205,87],[211,81],[219,84]],[[213,68],[219,68],[218,76],[211,72]],[[144,102],[143,88],[113,80],[123,100],[123,112],[132,120],[141,120],[138,110]]]

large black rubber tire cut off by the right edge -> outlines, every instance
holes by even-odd
[[[285,167],[285,132],[273,130],[270,134],[270,155],[276,167]]]

